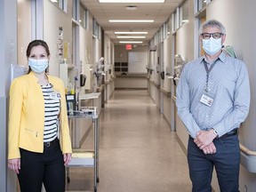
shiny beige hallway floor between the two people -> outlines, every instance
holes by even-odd
[[[92,134],[82,148],[92,148]],[[118,90],[100,115],[98,192],[191,191],[175,132],[146,90]],[[93,169],[71,168],[67,191],[93,191]]]

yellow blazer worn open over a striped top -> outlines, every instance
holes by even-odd
[[[60,147],[71,153],[65,88],[60,78],[48,76],[54,92],[60,92]],[[12,81],[9,105],[8,159],[20,158],[20,149],[44,151],[44,96],[33,72]]]

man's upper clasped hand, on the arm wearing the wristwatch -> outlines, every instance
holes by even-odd
[[[197,147],[200,149],[205,148],[210,143],[212,143],[212,140],[216,138],[216,134],[214,134],[214,130],[208,130],[208,131],[199,131],[196,133],[196,138],[194,142],[196,143]]]

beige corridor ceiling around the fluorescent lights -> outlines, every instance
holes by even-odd
[[[140,39],[143,44],[156,34],[171,13],[180,5],[182,0],[165,0],[164,3],[99,3],[99,0],[81,0],[89,12],[103,28],[110,39],[118,44],[115,31],[148,31],[146,39]],[[126,7],[136,6],[136,10],[129,10]],[[110,23],[108,20],[155,20],[153,23]],[[119,35],[120,36],[120,35]],[[133,35],[134,36],[134,35]],[[122,39],[139,40],[139,39]]]

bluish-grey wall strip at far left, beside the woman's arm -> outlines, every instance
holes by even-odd
[[[12,192],[16,174],[7,170],[7,114],[11,64],[17,63],[17,1],[0,1],[0,191]]]

